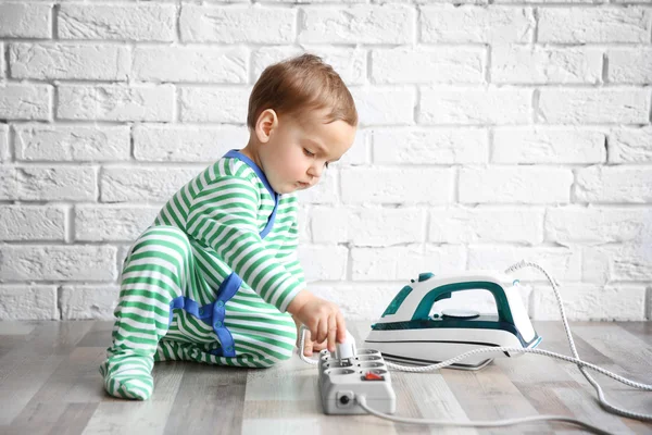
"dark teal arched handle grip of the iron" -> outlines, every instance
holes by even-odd
[[[487,281],[447,284],[431,289],[426,294],[426,296],[423,297],[423,299],[418,303],[418,307],[416,307],[416,310],[412,315],[412,320],[428,320],[430,309],[432,308],[432,304],[435,302],[437,302],[440,299],[450,298],[453,291],[474,289],[489,290],[493,295],[493,299],[496,299],[498,320],[500,322],[506,322],[512,325],[514,324],[514,319],[512,318],[512,312],[510,311],[510,306],[507,303],[507,297],[505,296],[502,287],[496,283],[489,283]]]

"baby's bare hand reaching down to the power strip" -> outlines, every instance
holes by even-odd
[[[342,343],[347,338],[347,325],[339,307],[310,291],[300,291],[288,307],[288,311],[310,331],[310,337],[306,338],[310,338],[312,350],[324,349],[323,344],[326,343],[325,348],[335,352],[336,340]]]

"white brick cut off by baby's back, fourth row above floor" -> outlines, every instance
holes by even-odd
[[[203,171],[197,167],[106,167],[100,176],[101,202],[166,202]]]

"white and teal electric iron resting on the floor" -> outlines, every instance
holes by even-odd
[[[432,312],[435,302],[452,294],[481,289],[493,296],[498,313],[480,314],[468,309]],[[435,276],[422,273],[411,279],[372,325],[365,346],[387,360],[415,365],[434,364],[481,347],[535,348],[541,341],[525,311],[518,279],[494,271],[462,272]],[[454,369],[479,370],[505,355],[471,356]],[[487,358],[487,356],[490,358]]]

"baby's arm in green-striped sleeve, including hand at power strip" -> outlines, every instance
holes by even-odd
[[[259,191],[249,181],[222,176],[206,183],[188,204],[186,231],[213,248],[266,302],[289,311],[317,343],[343,341],[346,326],[339,308],[304,289],[263,244],[256,225]],[[180,206],[180,204],[179,204]]]

